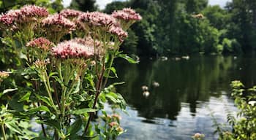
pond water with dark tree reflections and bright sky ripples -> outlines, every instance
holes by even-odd
[[[116,66],[118,81],[126,82],[117,91],[129,104],[129,116],[121,114],[127,132],[119,139],[191,139],[195,133],[217,139],[209,114],[214,112],[218,123],[226,123],[225,109],[236,110],[229,97],[230,82],[240,79],[246,86],[256,85],[252,56],[143,59],[137,65],[117,61]],[[148,86],[148,96],[143,96],[143,85]]]

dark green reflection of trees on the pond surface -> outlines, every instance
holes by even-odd
[[[189,111],[195,115],[197,101],[208,101],[210,96],[221,95],[227,90],[230,79],[227,70],[232,57],[192,57],[181,61],[148,61],[138,65],[118,63],[118,75],[126,84],[118,88],[127,102],[135,107],[140,116],[176,120],[181,102],[189,103]],[[159,82],[154,88],[153,82]],[[145,98],[141,87],[147,85],[150,95]]]

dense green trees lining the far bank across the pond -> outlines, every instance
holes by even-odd
[[[113,1],[105,12],[132,7],[143,15],[142,22],[130,31],[134,32],[132,40],[127,41],[135,47],[125,51],[138,55],[240,54],[255,51],[255,3],[233,0],[221,8],[208,6],[207,0],[129,0]]]

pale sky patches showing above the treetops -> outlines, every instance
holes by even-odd
[[[64,7],[69,6],[71,1],[72,0],[64,0],[63,2]],[[125,0],[97,0],[96,3],[97,5],[99,5],[99,9],[104,9],[105,6],[112,1],[125,1]],[[208,4],[210,5],[219,4],[220,7],[224,7],[227,1],[231,1],[231,0],[208,0]]]

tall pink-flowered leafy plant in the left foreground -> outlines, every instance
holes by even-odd
[[[0,82],[10,74],[21,78],[10,77],[14,88],[0,93],[4,140],[116,139],[123,133],[116,115],[103,119],[103,129],[91,121],[107,102],[125,109],[124,98],[114,88],[121,83],[109,85],[108,79],[117,77],[115,58],[137,63],[119,47],[129,26],[140,19],[129,8],[112,15],[72,9],[49,15],[34,5],[1,15],[2,42],[19,63],[15,70],[1,72]],[[31,131],[32,120],[41,126],[40,133]]]

